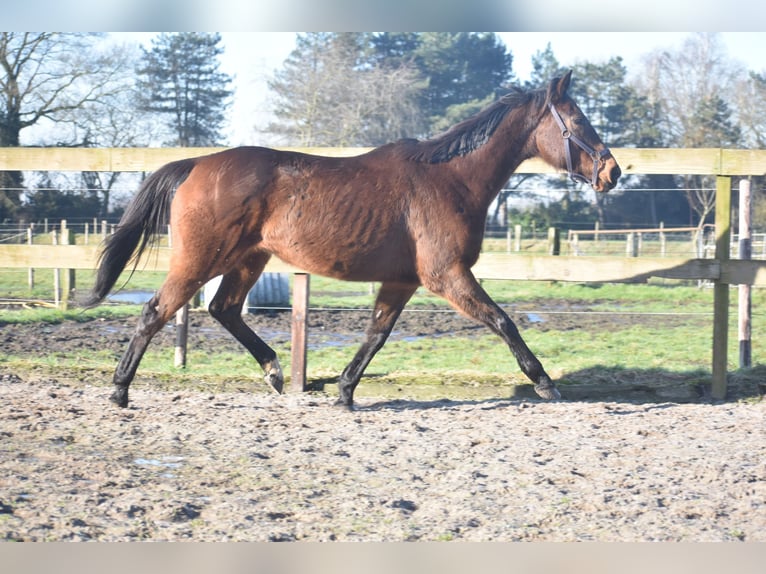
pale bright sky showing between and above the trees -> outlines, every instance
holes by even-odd
[[[529,78],[532,56],[550,42],[563,66],[577,62],[606,62],[623,58],[628,73],[640,69],[642,58],[655,50],[677,49],[688,32],[498,32],[513,55],[513,70],[520,81]],[[113,33],[118,41],[149,47],[153,33]],[[766,32],[722,32],[727,55],[746,69],[766,71]],[[271,104],[267,80],[295,47],[292,32],[223,32],[222,71],[234,78],[229,145],[270,145],[260,140],[257,127],[269,122]]]

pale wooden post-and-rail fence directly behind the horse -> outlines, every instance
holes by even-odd
[[[221,148],[0,148],[0,170],[25,171],[152,171],[171,160],[203,155]],[[308,153],[350,156],[361,148],[301,149]],[[729,286],[766,285],[766,262],[731,260],[732,178],[766,174],[766,150],[636,149],[612,150],[624,174],[713,175],[716,177],[715,257],[582,257],[482,253],[473,271],[480,279],[575,282],[645,282],[649,277],[707,280],[714,283],[712,389],[726,396]],[[540,160],[524,162],[517,173],[554,173]],[[168,248],[141,262],[147,270],[166,270]],[[0,268],[93,269],[95,246],[0,245]],[[293,388],[305,388],[306,307],[309,277],[273,259],[267,272],[295,273],[293,299]],[[65,274],[66,275],[66,274]]]

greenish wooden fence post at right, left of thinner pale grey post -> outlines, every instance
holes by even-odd
[[[729,259],[731,245],[731,177],[717,176],[715,191],[715,258]],[[729,285],[713,287],[713,383],[714,399],[726,398],[727,346],[729,343]]]

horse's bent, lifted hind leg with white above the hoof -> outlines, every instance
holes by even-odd
[[[225,274],[208,310],[258,361],[265,373],[266,382],[281,393],[284,375],[277,354],[242,319],[242,305],[247,293],[258,280],[269,257],[268,254],[258,253],[241,267]]]

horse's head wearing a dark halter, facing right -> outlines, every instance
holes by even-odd
[[[588,118],[567,95],[571,78],[570,70],[548,86],[545,115],[536,133],[537,148],[545,161],[566,169],[572,180],[607,192],[622,172]]]

